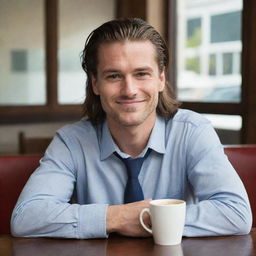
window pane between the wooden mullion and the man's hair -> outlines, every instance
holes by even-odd
[[[81,104],[86,76],[80,55],[89,33],[114,18],[114,0],[60,0],[58,102]]]

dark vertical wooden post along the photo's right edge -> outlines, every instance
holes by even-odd
[[[243,1],[242,142],[256,143],[256,1]]]

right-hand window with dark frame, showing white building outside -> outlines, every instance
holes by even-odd
[[[256,143],[256,2],[168,3],[170,80],[182,107],[207,114],[217,128],[235,129],[238,143]]]

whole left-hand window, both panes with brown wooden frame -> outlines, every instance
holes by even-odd
[[[80,54],[115,0],[0,0],[0,123],[75,120],[86,76]]]

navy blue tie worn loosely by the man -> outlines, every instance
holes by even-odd
[[[150,150],[147,151],[144,157],[140,158],[122,158],[118,153],[115,155],[120,158],[126,166],[128,181],[124,191],[124,203],[132,203],[144,199],[144,194],[139,183],[139,173],[141,166],[148,156]]]

